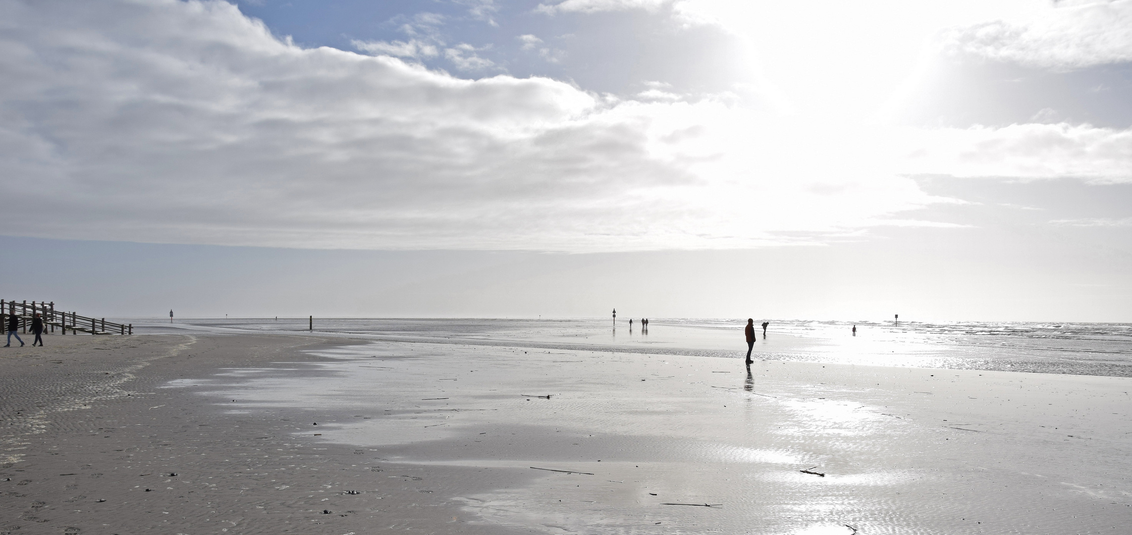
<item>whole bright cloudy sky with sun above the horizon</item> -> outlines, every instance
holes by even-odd
[[[1132,0],[0,0],[0,292],[1132,322]]]

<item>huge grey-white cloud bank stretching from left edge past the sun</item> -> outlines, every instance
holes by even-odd
[[[301,248],[749,248],[931,224],[901,215],[947,201],[917,172],[1129,169],[1123,130],[892,131],[711,95],[619,100],[393,57],[423,54],[413,38],[366,55],[297,46],[221,1],[0,0],[0,225]],[[491,68],[478,50],[443,53]]]

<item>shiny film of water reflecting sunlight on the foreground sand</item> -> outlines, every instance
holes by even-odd
[[[316,354],[317,373],[230,370],[208,395],[336,411],[319,440],[389,463],[512,471],[524,483],[451,498],[522,533],[1094,534],[1132,510],[1124,378],[774,361],[748,374],[448,343]]]

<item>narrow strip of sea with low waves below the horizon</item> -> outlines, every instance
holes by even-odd
[[[301,319],[130,320],[139,331],[306,333]],[[857,336],[851,327],[858,328]],[[740,357],[741,320],[650,319],[648,331],[627,319],[368,319],[318,318],[315,331],[358,338],[584,348]],[[758,336],[758,359],[846,364],[1027,371],[1132,377],[1130,323],[953,322],[899,325],[772,320]]]

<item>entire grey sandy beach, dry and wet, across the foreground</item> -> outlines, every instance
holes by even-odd
[[[0,353],[0,534],[1099,534],[1132,518],[1122,377],[45,339]]]

